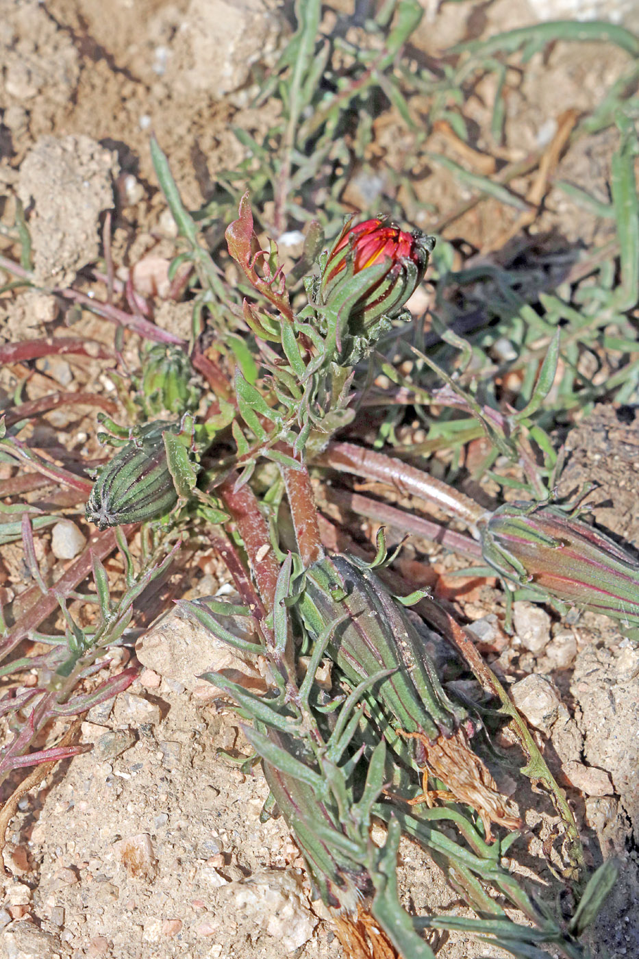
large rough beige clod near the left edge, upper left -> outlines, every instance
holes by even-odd
[[[33,212],[36,283],[68,286],[100,252],[100,215],[113,206],[115,154],[88,136],[43,136],[20,166],[17,193]]]

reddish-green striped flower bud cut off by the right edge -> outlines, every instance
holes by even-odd
[[[485,561],[540,596],[639,626],[639,563],[556,505],[506,503],[482,533]]]

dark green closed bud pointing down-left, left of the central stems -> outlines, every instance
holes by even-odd
[[[86,503],[86,519],[99,529],[152,520],[178,503],[162,434],[179,424],[157,421],[139,427],[100,472]]]

